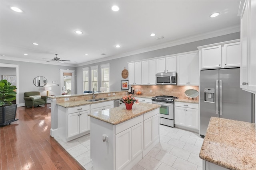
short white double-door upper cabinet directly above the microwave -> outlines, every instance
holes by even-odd
[[[156,73],[176,72],[176,56],[156,59]]]

